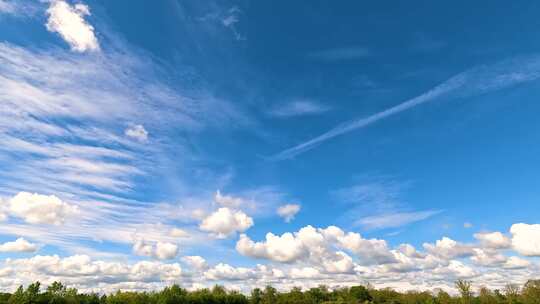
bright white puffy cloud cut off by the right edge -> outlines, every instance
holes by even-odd
[[[514,224],[510,233],[515,251],[525,256],[540,256],[540,224]]]

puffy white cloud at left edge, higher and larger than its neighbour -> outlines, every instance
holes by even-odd
[[[79,209],[54,195],[20,192],[9,200],[9,212],[31,224],[61,225]]]

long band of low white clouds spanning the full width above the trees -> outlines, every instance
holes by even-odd
[[[420,252],[410,244],[389,248],[384,240],[365,239],[358,233],[346,232],[335,226],[307,226],[280,236],[269,233],[261,242],[254,242],[246,235],[240,236],[236,244],[238,252],[277,262],[269,265],[235,267],[225,262],[209,265],[201,256],[184,256],[182,263],[190,270],[184,273],[176,263],[147,261],[125,264],[92,261],[84,255],[67,258],[36,256],[4,261],[0,266],[0,287],[15,287],[24,282],[24,278],[18,275],[24,273],[33,279],[61,280],[82,287],[99,285],[103,291],[115,288],[156,289],[162,286],[158,283],[161,281],[181,282],[186,287],[207,287],[219,283],[243,291],[266,284],[291,288],[321,283],[345,286],[369,281],[377,287],[407,290],[451,289],[454,280],[468,279],[495,288],[508,281],[526,280],[540,273],[539,265],[532,260],[507,257],[506,249],[493,248],[498,246],[492,245],[482,241],[462,244],[442,238],[434,244],[424,244],[426,250]],[[150,256],[156,256],[159,247],[144,242],[137,246],[144,255]]]

